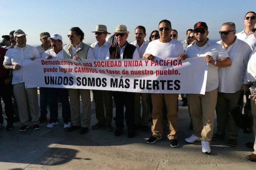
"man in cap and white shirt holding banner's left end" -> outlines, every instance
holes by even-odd
[[[37,88],[25,88],[22,66],[24,60],[34,60],[41,57],[35,47],[26,44],[26,34],[21,29],[14,32],[14,39],[16,40],[16,46],[7,50],[3,65],[5,69],[12,70],[14,96],[19,109],[20,122],[22,123],[19,131],[25,131],[29,127],[27,99],[29,101],[33,130],[38,130],[40,126]]]

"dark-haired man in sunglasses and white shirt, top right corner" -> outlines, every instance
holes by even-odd
[[[256,39],[253,36],[252,28],[256,23],[256,13],[251,11],[247,12],[244,17],[244,25],[245,29],[236,34],[237,38],[245,41],[253,50],[256,47]]]

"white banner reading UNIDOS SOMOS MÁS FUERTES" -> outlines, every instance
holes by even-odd
[[[141,93],[205,94],[203,57],[154,60],[23,60],[25,87],[77,88]]]

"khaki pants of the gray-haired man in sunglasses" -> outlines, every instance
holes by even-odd
[[[218,92],[216,105],[217,114],[217,134],[221,136],[227,135],[229,139],[237,139],[239,127],[236,125],[231,111],[237,107],[241,90],[235,93]]]

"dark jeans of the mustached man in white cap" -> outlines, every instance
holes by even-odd
[[[58,120],[58,97],[62,104],[62,118],[64,123],[70,122],[71,112],[68,100],[68,89],[64,88],[48,88],[50,122]]]

